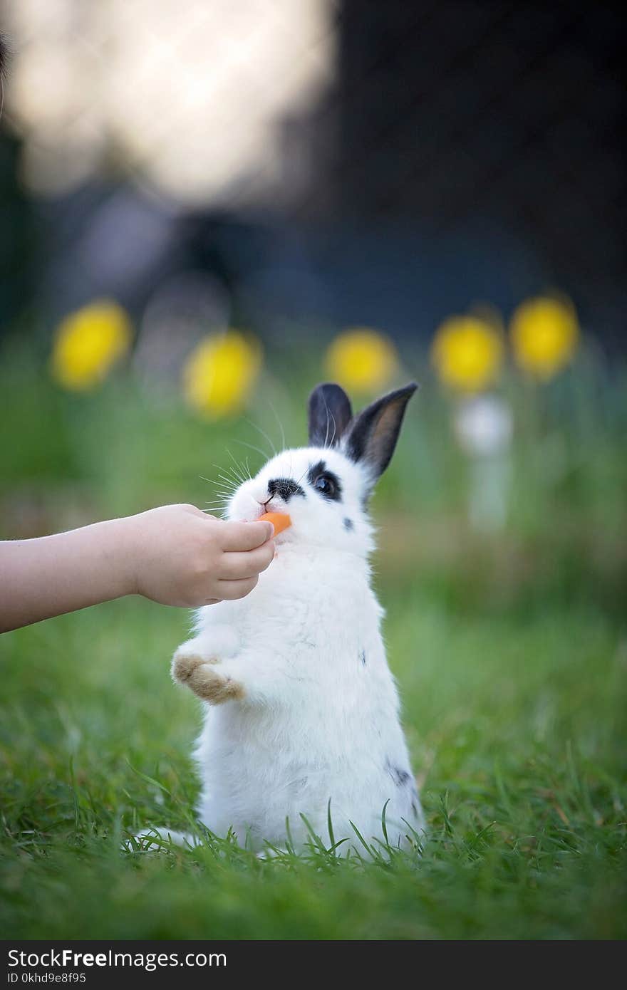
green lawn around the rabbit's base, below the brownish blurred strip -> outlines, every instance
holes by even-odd
[[[625,640],[593,612],[388,604],[430,826],[389,865],[120,852],[190,814],[199,713],[167,672],[185,617],[128,601],[5,638],[5,938],[624,937]]]

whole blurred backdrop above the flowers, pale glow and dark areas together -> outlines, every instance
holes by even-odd
[[[5,0],[5,333],[29,296],[49,319],[103,294],[140,323],[157,290],[200,306],[191,274],[218,322],[281,342],[425,342],[473,301],[559,288],[620,346],[619,6],[183,8]]]

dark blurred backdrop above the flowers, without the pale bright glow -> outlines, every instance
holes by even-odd
[[[477,301],[507,317],[557,289],[588,331],[622,347],[619,5],[344,0],[332,31],[335,78],[306,112],[276,122],[284,175],[297,181],[275,206],[234,196],[190,212],[140,189],[119,162],[34,200],[16,177],[9,99],[5,330],[31,300],[45,303],[46,325],[99,294],[139,317],[164,278],[192,268],[215,276],[232,319],[266,338],[367,323],[427,339]]]

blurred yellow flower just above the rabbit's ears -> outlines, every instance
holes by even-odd
[[[396,348],[367,327],[346,330],[327,350],[327,372],[355,392],[375,392],[386,385],[398,366]]]

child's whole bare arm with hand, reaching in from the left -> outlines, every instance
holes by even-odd
[[[140,594],[194,608],[253,590],[271,523],[230,523],[190,505],[0,543],[0,632]]]

